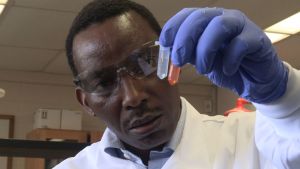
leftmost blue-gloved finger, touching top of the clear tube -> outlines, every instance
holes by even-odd
[[[185,18],[187,18],[196,9],[197,8],[182,9],[180,12],[170,18],[160,33],[159,43],[166,47],[172,46],[180,25],[183,23]]]

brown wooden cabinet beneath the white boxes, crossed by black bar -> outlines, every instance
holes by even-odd
[[[35,129],[27,134],[29,140],[43,141],[70,141],[78,143],[87,143],[89,132],[77,130],[60,130],[60,129]],[[50,161],[44,158],[26,158],[26,169],[46,169]],[[51,168],[51,167],[49,167]]]

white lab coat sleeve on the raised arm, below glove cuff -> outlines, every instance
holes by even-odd
[[[262,156],[278,169],[300,166],[300,71],[289,69],[285,94],[268,104],[255,104],[257,122],[255,140]]]

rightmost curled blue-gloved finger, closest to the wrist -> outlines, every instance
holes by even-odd
[[[251,21],[247,20],[242,32],[231,40],[224,52],[223,72],[226,75],[234,74],[244,59],[249,54],[257,52],[264,43],[264,33]],[[267,40],[267,39],[266,39]],[[264,55],[262,55],[264,56]],[[259,60],[258,56],[248,58],[249,61]]]

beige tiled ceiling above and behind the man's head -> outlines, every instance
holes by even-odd
[[[78,11],[91,0],[9,0],[0,16],[0,71],[70,76],[64,41]],[[299,0],[136,0],[148,7],[161,25],[184,7],[242,10],[261,28],[300,11]],[[300,22],[300,21],[299,21]],[[283,60],[300,69],[300,34],[275,44]],[[297,56],[298,55],[298,56]],[[181,83],[209,84],[186,66]]]

